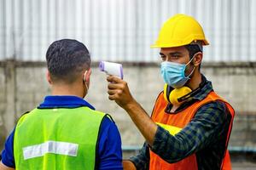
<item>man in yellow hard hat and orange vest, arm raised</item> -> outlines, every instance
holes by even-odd
[[[121,106],[146,139],[137,156],[123,161],[124,169],[230,169],[227,150],[234,110],[201,74],[203,46],[200,24],[176,14],[167,20],[152,48],[160,48],[164,90],[149,117],[127,83],[109,76],[109,99]]]

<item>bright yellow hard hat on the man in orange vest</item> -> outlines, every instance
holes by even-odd
[[[200,24],[191,16],[176,14],[164,23],[157,41],[151,48],[179,47],[198,41],[202,42],[202,45],[209,44]]]

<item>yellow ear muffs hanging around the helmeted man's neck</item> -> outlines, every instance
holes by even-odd
[[[181,105],[183,101],[179,102],[177,99],[191,92],[192,90],[185,86],[182,88],[174,88],[172,90],[172,88],[166,83],[164,87],[164,98],[167,102],[172,103],[172,105]]]

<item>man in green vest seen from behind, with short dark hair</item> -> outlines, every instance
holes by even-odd
[[[82,42],[53,42],[46,54],[52,95],[20,117],[0,169],[123,169],[121,139],[111,116],[83,98],[90,54]]]

